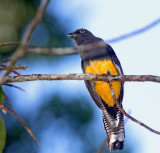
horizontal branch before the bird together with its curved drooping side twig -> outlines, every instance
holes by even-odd
[[[0,77],[2,79],[2,77]],[[120,81],[120,82],[126,82],[126,81],[152,81],[152,82],[158,82],[160,83],[160,77],[159,76],[152,76],[152,75],[123,75],[123,76],[110,76],[110,75],[95,75],[95,74],[32,74],[32,75],[21,75],[21,76],[5,76],[3,77],[4,83],[9,82],[24,82],[24,81],[35,81],[35,80],[90,80],[90,81],[107,81],[109,82],[110,88],[111,88],[111,94],[112,97],[116,103],[116,106],[119,108],[119,110],[129,119],[132,121],[138,123],[139,125],[145,127],[149,131],[159,134],[160,132],[153,130],[149,126],[145,125],[144,123],[136,120],[129,114],[125,112],[125,110],[119,105],[117,102],[117,99],[114,95],[112,81]]]

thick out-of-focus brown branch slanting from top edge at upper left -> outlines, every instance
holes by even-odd
[[[24,33],[22,40],[21,40],[21,44],[18,47],[18,49],[14,52],[14,54],[11,57],[11,62],[10,62],[10,68],[6,71],[6,73],[4,74],[4,76],[7,76],[10,74],[10,72],[12,71],[12,66],[17,62],[17,60],[19,58],[21,58],[25,52],[26,52],[26,46],[30,40],[31,34],[33,32],[33,30],[35,29],[35,27],[37,26],[37,24],[40,22],[42,15],[48,5],[50,0],[42,0],[39,8],[37,9],[37,12],[34,16],[34,18],[32,19],[32,21],[30,22],[30,24],[28,25],[28,28],[26,30],[26,32]],[[3,81],[0,80],[0,84],[3,84]]]

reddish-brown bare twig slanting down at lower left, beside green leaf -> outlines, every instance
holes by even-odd
[[[37,147],[38,147],[38,146],[39,146],[38,141],[37,141],[35,135],[33,134],[33,132],[31,131],[31,129],[29,128],[29,126],[25,123],[25,121],[24,121],[22,118],[20,118],[20,117],[16,114],[16,112],[15,112],[14,110],[11,110],[10,108],[8,108],[8,107],[6,107],[6,106],[4,106],[4,105],[2,105],[2,104],[0,104],[0,108],[2,109],[3,112],[7,112],[7,111],[10,112],[12,115],[14,115],[14,116],[17,118],[17,120],[18,120],[19,122],[21,122],[21,123],[23,124],[23,126],[25,127],[25,129],[27,130],[27,132],[30,134],[30,136],[33,138],[35,144],[36,144]]]

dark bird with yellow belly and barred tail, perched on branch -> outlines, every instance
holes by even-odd
[[[123,75],[119,59],[112,47],[89,30],[77,29],[67,36],[71,37],[81,56],[84,74]],[[123,150],[125,140],[124,116],[116,107],[110,85],[104,81],[85,80],[85,85],[95,104],[102,110],[104,129],[107,135],[108,151]],[[115,97],[122,107],[123,82],[112,82]]]

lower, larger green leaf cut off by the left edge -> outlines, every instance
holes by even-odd
[[[0,117],[0,153],[3,153],[3,148],[6,143],[6,129],[3,119]]]

